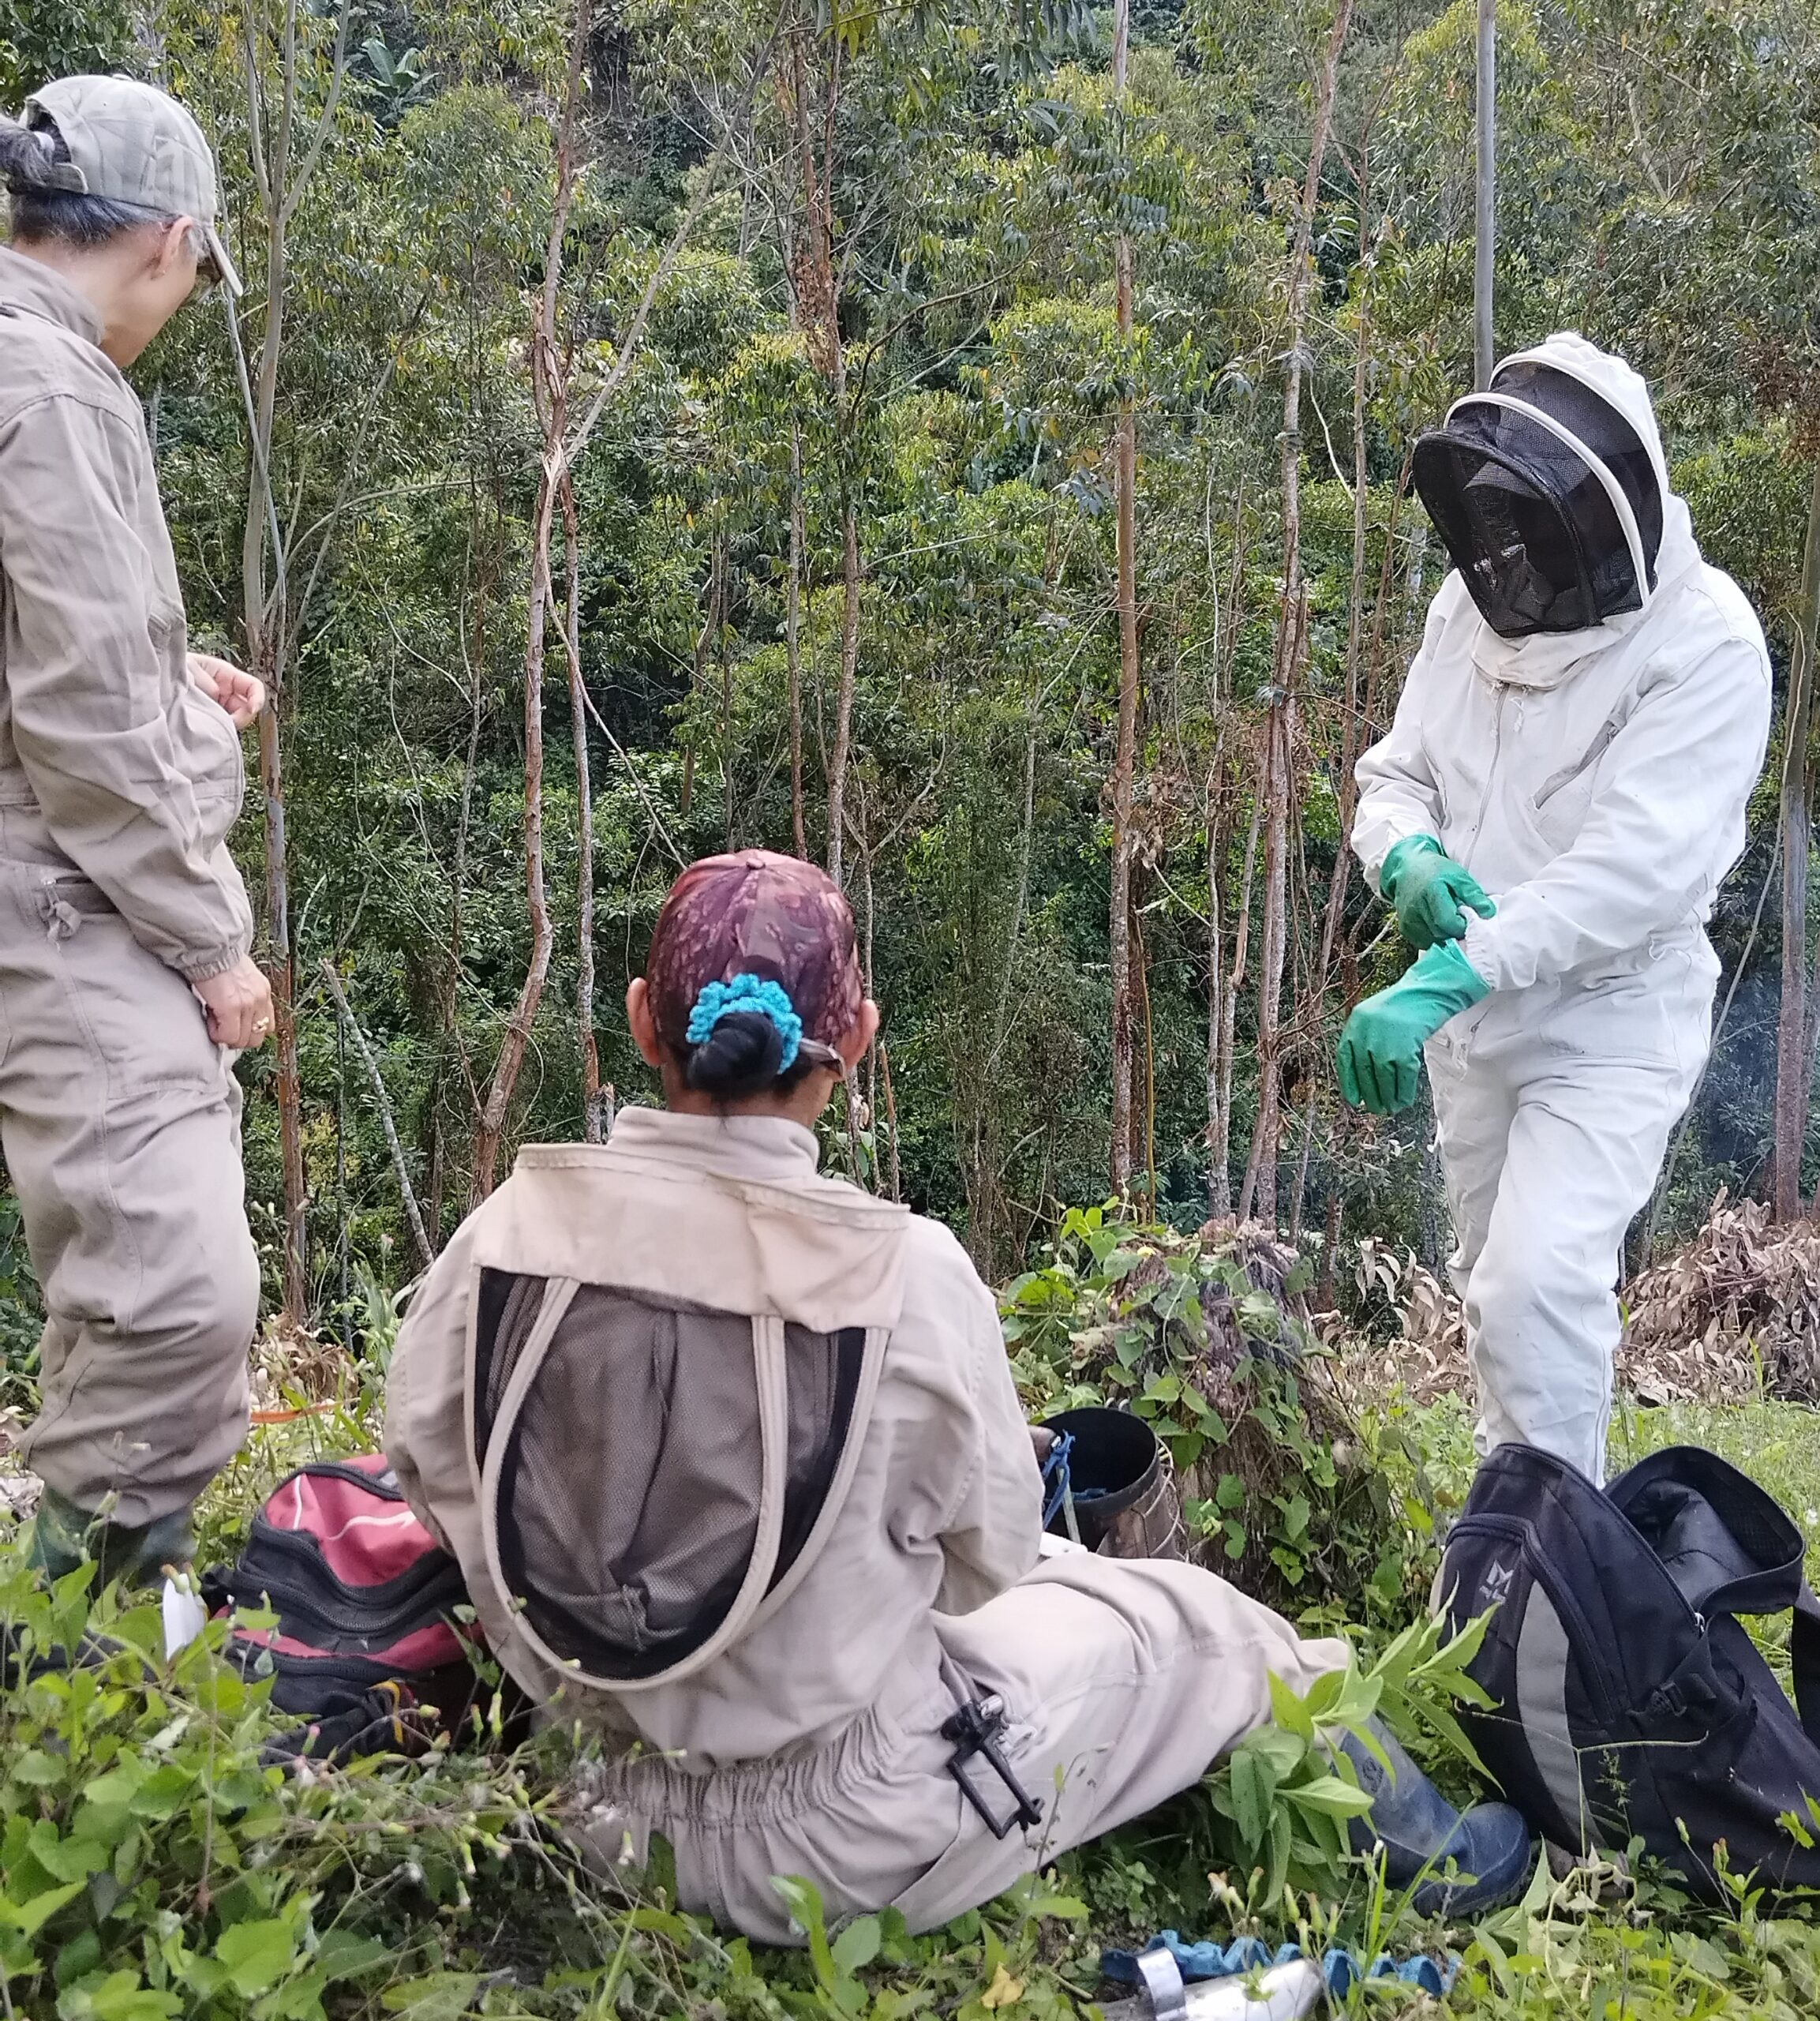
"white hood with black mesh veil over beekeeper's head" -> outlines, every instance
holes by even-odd
[[[1669,481],[1642,380],[1584,338],[1507,358],[1416,445],[1414,481],[1501,639],[1640,612]]]

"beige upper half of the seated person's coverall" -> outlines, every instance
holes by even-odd
[[[558,1692],[566,1665],[537,1645],[505,1591],[513,1582],[483,1522],[473,1435],[475,1388],[485,1384],[471,1368],[491,1318],[489,1287],[505,1277],[602,1283],[737,1316],[731,1336],[713,1338],[693,1366],[685,1360],[687,1386],[677,1382],[669,1403],[693,1415],[675,1427],[673,1449],[701,1449],[685,1461],[697,1498],[717,1485],[705,1475],[723,1481],[755,1457],[747,1316],[818,1336],[863,1328],[873,1350],[869,1397],[852,1403],[865,1433],[846,1453],[850,1479],[828,1496],[838,1522],[810,1540],[800,1576],[780,1582],[733,1647],[691,1675],[624,1698],[570,1690],[566,1710],[707,1764],[814,1742],[873,1704],[893,1671],[933,1669],[933,1609],[978,1607],[1036,1562],[1030,1437],[992,1295],[953,1235],[820,1178],[814,1136],[794,1124],[624,1110],[610,1144],[519,1154],[505,1186],[436,1259],[388,1376],[386,1451],[398,1479],[469,1572],[501,1663],[535,1696]],[[574,1314],[570,1332],[604,1382],[608,1328]],[[743,1397],[729,1384],[733,1370],[745,1378]],[[648,1437],[626,1437],[626,1419],[663,1382],[675,1376],[652,1374],[640,1346],[618,1368],[592,1439],[580,1427],[602,1401],[566,1394],[553,1429],[578,1433],[568,1457],[604,1467],[616,1433],[644,1447]],[[709,1421],[725,1425],[729,1451],[707,1447]],[[628,1453],[612,1457],[630,1469]],[[553,1453],[551,1471],[562,1469]],[[572,1528],[588,1522],[578,1498]],[[640,1548],[628,1536],[616,1544],[622,1556]],[[551,1556],[566,1548],[578,1548],[574,1536],[555,1538]],[[529,1574],[539,1576],[535,1564]]]

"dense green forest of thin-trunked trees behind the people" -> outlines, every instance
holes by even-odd
[[[1440,1245],[1426,1114],[1329,1061],[1402,960],[1341,839],[1444,570],[1408,457],[1473,376],[1475,12],[1145,0],[1123,65],[1071,0],[0,0],[8,103],[151,77],[228,184],[238,317],[137,384],[194,643],[277,693],[275,1302],[333,1324],[515,1142],[652,1095],[624,982],[729,845],[842,877],[885,1035],[828,1156],[988,1273],[1127,1176]],[[1499,348],[1648,374],[1786,685],[1820,8],[1505,0],[1499,127]],[[1767,1184],[1790,717],[1658,1233]]]

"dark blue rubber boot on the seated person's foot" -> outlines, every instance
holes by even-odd
[[[1515,1902],[1535,1865],[1521,1813],[1507,1803],[1475,1803],[1471,1811],[1456,1811],[1390,1728],[1378,1720],[1368,1724],[1390,1758],[1390,1770],[1357,1734],[1341,1738],[1339,1748],[1372,1799],[1370,1813],[1347,1823],[1353,1851],[1370,1853],[1382,1845],[1384,1878],[1396,1890],[1414,1886],[1418,1916],[1458,1920]],[[1454,1880],[1448,1880],[1450,1863]]]

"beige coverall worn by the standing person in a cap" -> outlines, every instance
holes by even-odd
[[[145,418],[99,340],[0,249],[0,1144],[48,1308],[26,1453],[141,1524],[244,1433],[238,1091],[190,982],[252,916],[240,740],[190,681]]]

